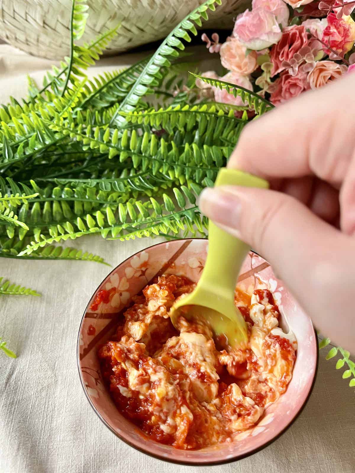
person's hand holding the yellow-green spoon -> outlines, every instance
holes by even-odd
[[[208,188],[201,211],[276,274],[323,334],[355,353],[355,74],[275,108],[241,133],[228,167],[271,190]]]

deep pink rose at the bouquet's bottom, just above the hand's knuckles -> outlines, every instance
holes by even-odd
[[[307,73],[299,69],[296,76],[292,76],[287,71],[281,73],[280,77],[275,80],[270,89],[270,101],[274,105],[280,105],[290,98],[297,97],[305,90],[310,88],[307,82]]]

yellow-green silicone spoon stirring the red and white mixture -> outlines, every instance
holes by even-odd
[[[219,185],[268,188],[264,179],[225,167],[217,175],[215,186]],[[207,260],[201,278],[194,291],[180,298],[171,308],[171,321],[177,327],[180,315],[186,319],[204,318],[215,335],[224,335],[228,344],[235,348],[247,341],[247,325],[234,304],[234,292],[250,247],[211,221],[208,241]]]

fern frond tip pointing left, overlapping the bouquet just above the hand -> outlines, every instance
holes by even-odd
[[[208,77],[200,76],[198,74],[194,74],[190,72],[196,79],[201,79],[207,84],[210,84],[213,87],[218,87],[221,90],[224,88],[227,90],[229,94],[232,94],[234,97],[240,96],[242,101],[249,105],[249,108],[255,110],[257,115],[262,115],[271,108],[274,108],[274,105],[266,100],[266,98],[258,95],[256,92],[248,90],[244,87],[231,84],[230,82],[225,82],[224,80],[220,79],[210,79]]]

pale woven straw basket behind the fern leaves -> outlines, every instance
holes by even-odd
[[[121,23],[108,53],[121,53],[164,38],[203,0],[89,0],[81,43]],[[231,28],[250,0],[224,0],[209,12],[206,28]],[[62,59],[69,52],[71,0],[0,0],[0,37],[27,53]]]

